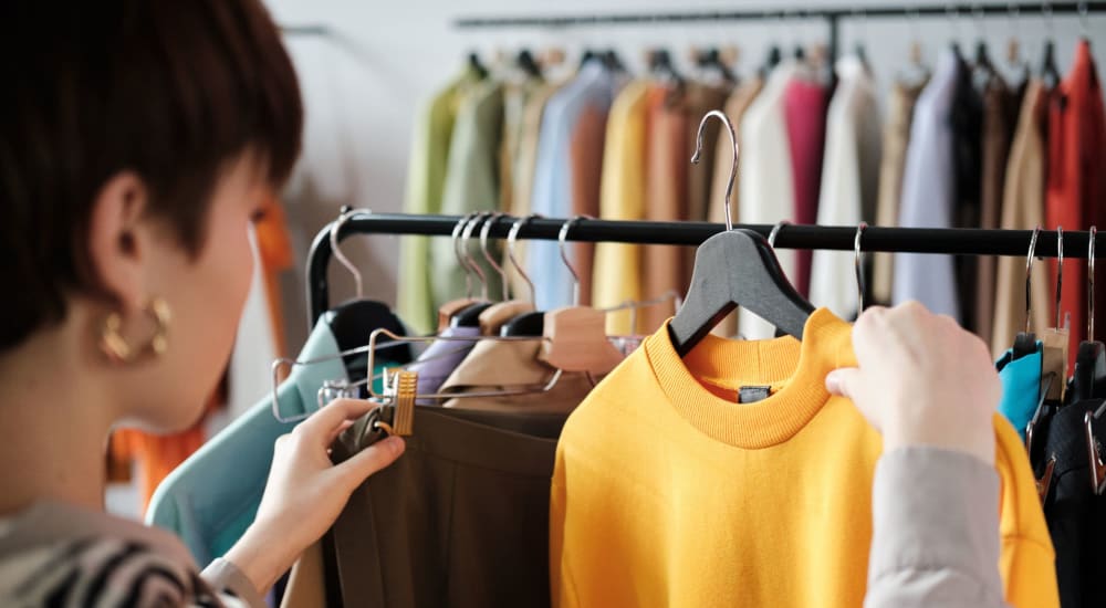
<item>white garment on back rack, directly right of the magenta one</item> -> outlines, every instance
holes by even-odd
[[[879,188],[879,106],[875,83],[855,55],[837,62],[837,91],[826,116],[825,156],[818,224],[857,226],[875,218]],[[863,238],[862,238],[863,239]],[[842,318],[856,315],[855,254],[814,252],[811,262],[811,303]]]

